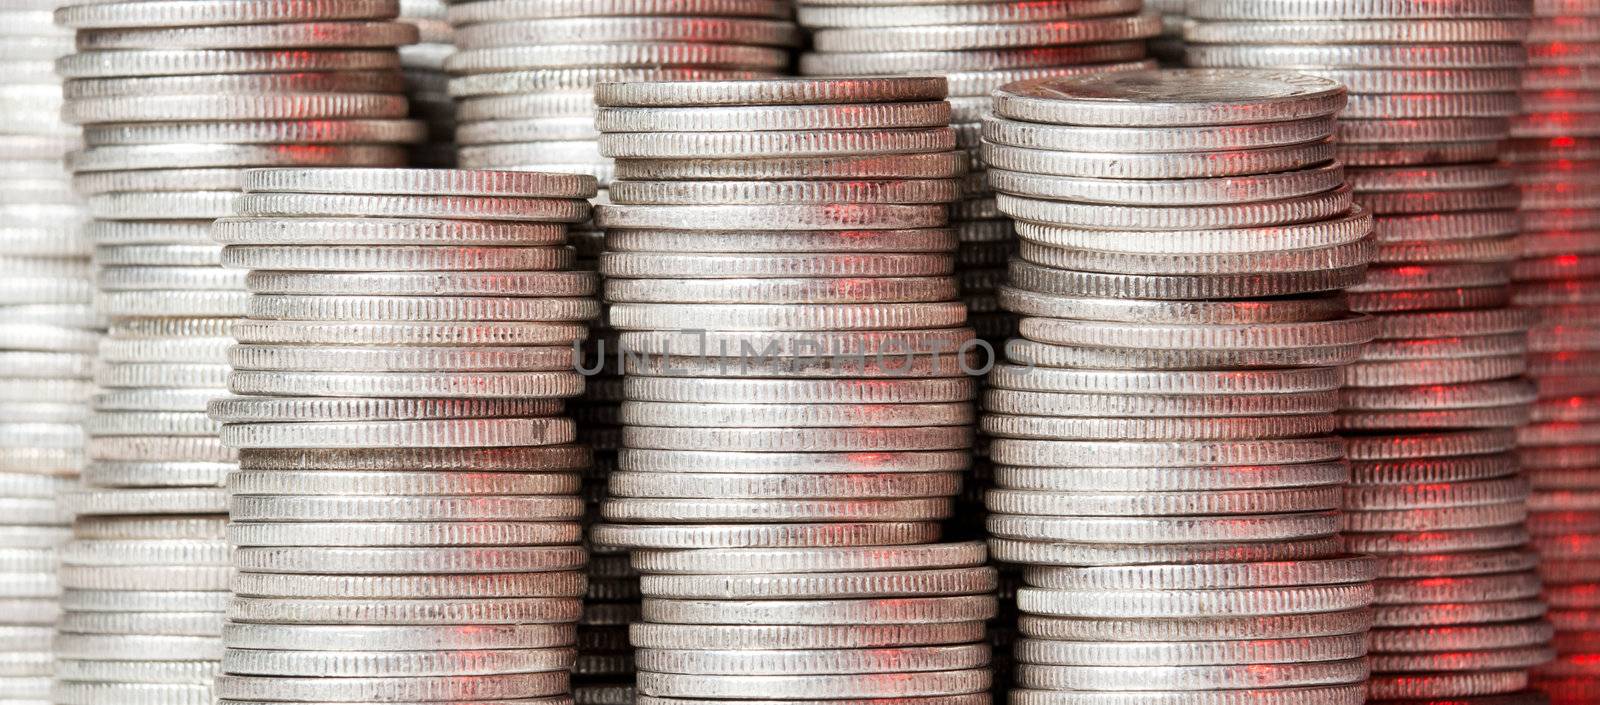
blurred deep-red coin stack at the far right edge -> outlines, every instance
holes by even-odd
[[[1514,296],[1539,315],[1528,369],[1539,400],[1518,452],[1558,652],[1534,687],[1578,705],[1600,700],[1600,2],[1533,11],[1523,112],[1504,152],[1522,187]]]

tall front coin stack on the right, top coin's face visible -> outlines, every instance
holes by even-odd
[[[1139,70],[995,91],[1016,219],[989,377],[990,552],[1024,564],[1016,705],[1349,703],[1376,564],[1342,555],[1339,368],[1373,254],[1334,161],[1344,88]]]

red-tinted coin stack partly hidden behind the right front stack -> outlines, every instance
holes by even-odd
[[[1195,0],[1194,66],[1334,78],[1339,157],[1378,254],[1350,307],[1378,341],[1346,369],[1350,550],[1381,558],[1371,699],[1514,692],[1549,659],[1507,456],[1534,398],[1509,309],[1518,192],[1498,165],[1522,99],[1530,3]]]

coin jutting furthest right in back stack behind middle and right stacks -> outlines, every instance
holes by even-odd
[[[1162,18],[1150,13],[1018,24],[816,29],[811,50],[829,54],[1093,45],[1155,37],[1160,26]]]

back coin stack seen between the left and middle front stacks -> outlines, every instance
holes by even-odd
[[[798,43],[784,0],[451,2],[462,166],[610,181],[594,126],[600,82],[778,75]]]

